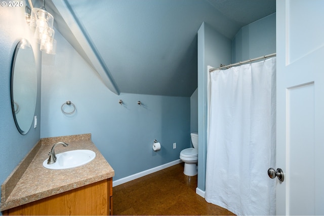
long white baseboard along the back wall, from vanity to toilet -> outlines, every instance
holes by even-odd
[[[130,181],[132,181],[132,180],[134,180],[136,178],[143,177],[145,175],[148,175],[148,174],[151,174],[153,172],[168,168],[170,166],[179,164],[181,162],[182,161],[180,159],[178,159],[178,160],[171,161],[169,163],[166,163],[166,164],[163,164],[163,165],[151,168],[151,169],[144,170],[142,172],[135,173],[133,175],[130,175],[130,176],[127,176],[127,177],[124,177],[124,178],[117,179],[116,181],[112,181],[112,187],[117,186],[117,185],[121,185],[121,184],[124,184],[124,183],[127,183],[127,182],[130,182]]]

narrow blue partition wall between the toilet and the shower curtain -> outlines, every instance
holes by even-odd
[[[198,186],[205,191],[208,65],[231,63],[231,40],[204,22],[198,30]]]

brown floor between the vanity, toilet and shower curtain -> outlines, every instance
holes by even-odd
[[[183,163],[113,187],[115,215],[234,215],[195,193],[197,175]]]

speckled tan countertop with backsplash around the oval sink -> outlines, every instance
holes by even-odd
[[[87,149],[94,151],[96,157],[91,162],[75,168],[61,170],[47,169],[43,167],[43,162],[49,158],[49,151],[51,151],[53,145],[58,141],[64,141],[69,146],[56,146],[55,154]],[[22,162],[2,185],[1,211],[114,176],[114,170],[91,141],[91,134],[42,138],[34,149],[36,150],[31,151],[26,156],[27,159],[28,157],[30,158],[30,163],[25,165],[25,170],[19,170],[24,169],[20,168],[20,166],[24,166]],[[18,174],[20,178],[15,180],[17,176],[12,176],[17,175],[19,171],[21,172],[21,174]]]

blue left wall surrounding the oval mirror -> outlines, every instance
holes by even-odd
[[[37,143],[40,125],[21,135],[11,110],[11,62],[17,43],[25,38],[31,43],[33,33],[25,20],[25,7],[0,7],[0,184],[6,180],[18,163]],[[35,115],[41,117],[41,55],[38,46],[32,45],[37,65],[37,101]],[[38,121],[39,123],[39,121]],[[1,214],[1,213],[0,213]]]

